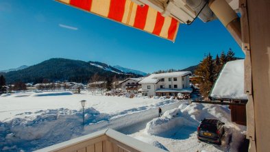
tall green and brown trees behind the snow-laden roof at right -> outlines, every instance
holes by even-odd
[[[214,59],[212,55],[208,53],[208,55],[205,55],[204,60],[199,63],[199,66],[195,70],[195,75],[198,76],[199,90],[205,99],[208,98],[214,81],[217,80],[223,66],[227,62],[237,59],[234,55],[232,49],[229,49],[227,53],[222,51],[221,54],[217,54]]]

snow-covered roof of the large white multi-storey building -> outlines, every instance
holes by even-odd
[[[140,81],[139,84],[156,84],[161,78],[164,77],[182,77],[184,75],[191,75],[191,71],[151,74]]]

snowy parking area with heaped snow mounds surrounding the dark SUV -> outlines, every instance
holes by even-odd
[[[197,140],[197,126],[203,118],[219,118],[225,123],[221,146]],[[238,151],[245,131],[245,126],[231,122],[227,105],[182,103],[130,136],[168,151]]]

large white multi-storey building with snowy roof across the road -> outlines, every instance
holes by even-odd
[[[190,71],[152,74],[138,84],[142,85],[144,96],[177,96],[178,93],[191,93]]]

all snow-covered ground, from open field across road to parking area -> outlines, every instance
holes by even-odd
[[[84,129],[81,100],[87,101]],[[246,130],[231,122],[227,105],[189,104],[162,97],[18,92],[2,94],[0,105],[0,151],[33,151],[106,127],[168,151],[238,151]],[[157,107],[164,112],[160,118],[156,118]],[[221,146],[197,140],[197,126],[203,118],[225,123]]]

